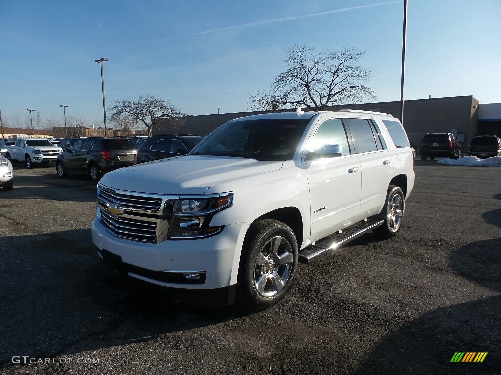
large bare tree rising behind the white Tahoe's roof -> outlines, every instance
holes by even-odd
[[[324,110],[327,105],[376,98],[366,85],[372,72],[358,65],[364,51],[344,47],[315,52],[315,47],[295,44],[286,49],[285,69],[274,75],[269,90],[249,95],[249,109],[307,107]],[[332,104],[329,104],[332,103]]]

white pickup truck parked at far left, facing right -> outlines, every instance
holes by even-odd
[[[58,155],[63,152],[46,138],[18,138],[16,144],[7,146],[7,157],[11,160],[26,161],[28,168],[36,164],[54,164]]]

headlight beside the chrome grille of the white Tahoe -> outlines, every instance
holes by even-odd
[[[210,220],[217,212],[229,208],[232,202],[232,192],[176,199],[169,238],[203,238],[219,233],[222,226],[209,226]]]

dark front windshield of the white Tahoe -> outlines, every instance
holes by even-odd
[[[230,121],[207,136],[190,154],[290,160],[309,119],[269,118]]]

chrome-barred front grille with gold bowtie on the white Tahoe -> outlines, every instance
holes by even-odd
[[[167,239],[177,198],[120,191],[99,184],[98,219],[117,237],[160,243]]]

